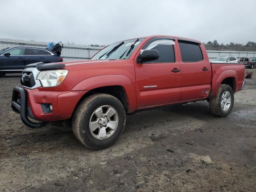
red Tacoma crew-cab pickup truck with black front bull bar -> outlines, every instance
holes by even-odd
[[[244,74],[243,64],[210,63],[200,41],[148,36],[110,44],[90,60],[28,65],[11,106],[28,127],[70,121],[83,145],[103,149],[138,110],[207,100],[212,114],[227,116]]]

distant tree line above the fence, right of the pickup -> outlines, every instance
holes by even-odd
[[[219,44],[217,40],[209,41],[207,43],[203,42],[206,50],[220,50],[220,51],[256,51],[256,42],[248,41],[246,44],[233,43],[229,44]]]

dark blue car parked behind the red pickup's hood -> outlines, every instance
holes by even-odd
[[[44,48],[13,47],[0,50],[0,75],[20,73],[35,62],[62,62],[62,56]]]

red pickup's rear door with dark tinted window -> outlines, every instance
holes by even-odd
[[[179,40],[181,53],[181,101],[206,98],[210,93],[212,70],[204,46]]]

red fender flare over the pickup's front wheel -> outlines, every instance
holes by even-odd
[[[87,78],[76,84],[72,91],[92,90],[106,86],[122,86],[128,99],[129,112],[136,108],[136,90],[135,81],[125,75],[100,75]]]

